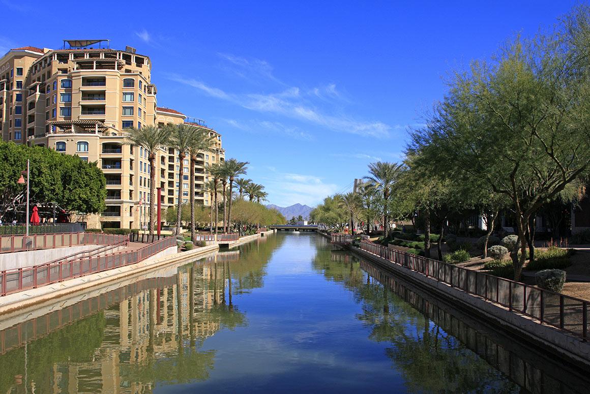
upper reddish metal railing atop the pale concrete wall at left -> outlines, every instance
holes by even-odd
[[[63,234],[4,235],[0,237],[0,253],[71,247],[75,245],[111,245],[124,235],[97,232],[73,232]]]

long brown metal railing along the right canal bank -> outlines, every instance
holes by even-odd
[[[550,290],[468,270],[453,264],[360,241],[360,249],[446,283],[466,293],[478,295],[538,323],[562,329],[588,340],[589,302]]]

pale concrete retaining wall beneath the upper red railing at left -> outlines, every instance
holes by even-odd
[[[103,245],[78,245],[74,247],[39,249],[28,252],[14,252],[0,254],[0,270],[31,267],[63,258],[71,254],[99,248]]]

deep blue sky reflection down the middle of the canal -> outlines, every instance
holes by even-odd
[[[219,331],[200,349],[217,350],[209,379],[156,393],[405,391],[383,344],[356,319],[351,293],[312,270],[315,237],[284,237],[264,287],[233,298],[248,326]]]

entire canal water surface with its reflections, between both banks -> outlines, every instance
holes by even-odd
[[[582,393],[584,373],[338,250],[277,234],[34,311],[1,393]]]

